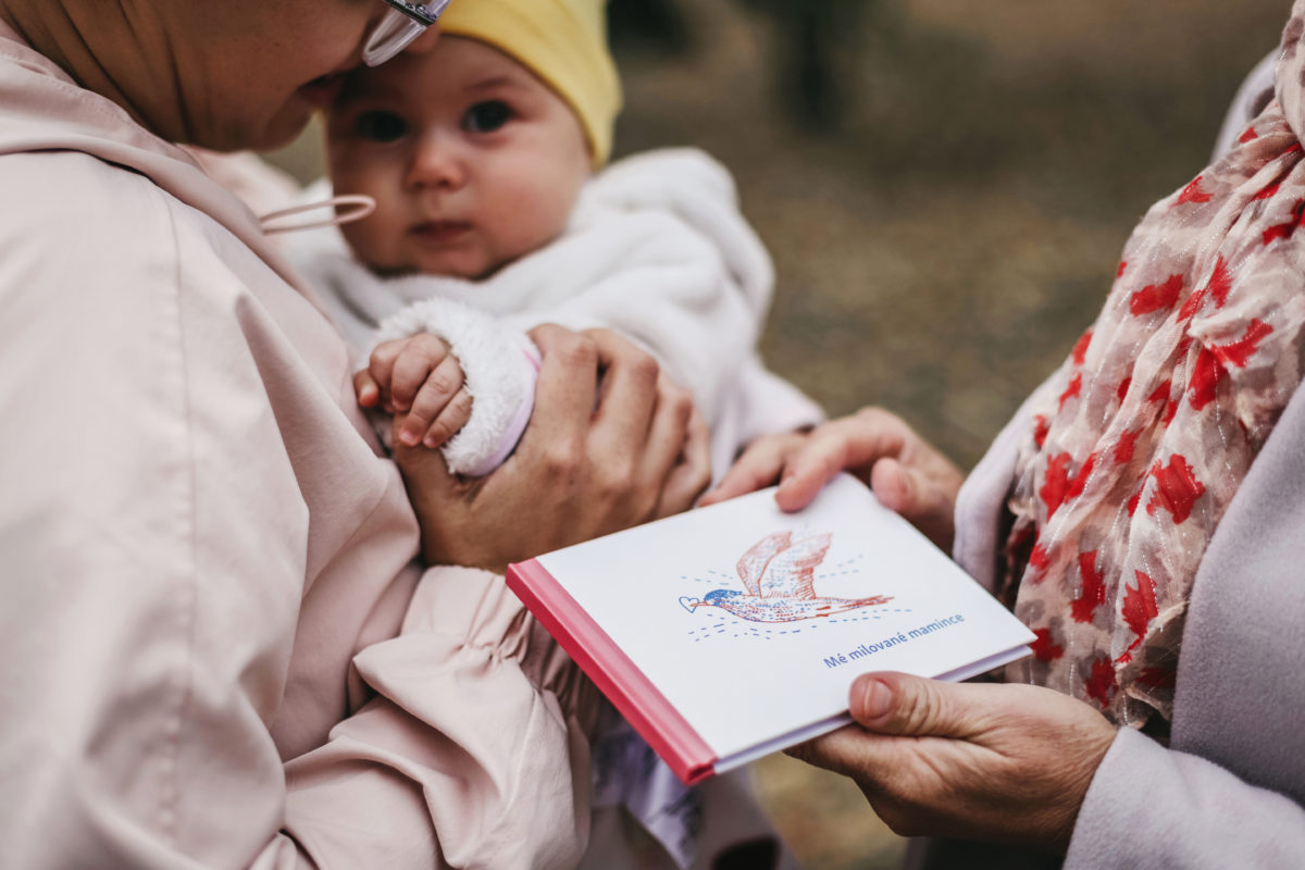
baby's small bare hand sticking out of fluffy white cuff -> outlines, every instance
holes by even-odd
[[[354,376],[358,403],[407,415],[395,438],[408,447],[438,447],[471,419],[471,394],[458,359],[435,335],[384,342]]]

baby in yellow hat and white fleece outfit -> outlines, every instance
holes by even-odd
[[[729,175],[693,150],[607,166],[621,98],[603,5],[455,3],[432,48],[356,72],[328,116],[334,193],[376,211],[291,256],[356,353],[359,403],[407,412],[394,437],[457,473],[491,472],[525,429],[526,330],[543,322],[656,356],[693,391],[719,471],[752,438],[821,419],[756,353],[774,274]],[[615,717],[592,758],[595,805],[624,805],[680,866],[767,836],[737,783],[686,792]],[[586,866],[629,863],[622,837],[595,815]]]

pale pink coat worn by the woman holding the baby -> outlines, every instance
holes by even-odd
[[[3,25],[0,190],[4,861],[574,863],[574,670],[492,575],[419,575],[253,215]]]

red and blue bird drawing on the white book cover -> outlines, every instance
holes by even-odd
[[[864,599],[816,595],[816,567],[825,561],[831,539],[827,533],[796,541],[792,532],[767,535],[739,560],[739,579],[746,592],[713,590],[702,599],[684,596],[680,604],[689,613],[715,607],[749,622],[796,622],[890,601],[886,595]]]

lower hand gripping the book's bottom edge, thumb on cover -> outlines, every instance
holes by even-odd
[[[791,755],[852,777],[903,836],[1009,843],[1064,854],[1114,728],[1051,689],[902,673],[852,683],[856,724]]]

